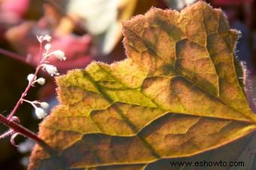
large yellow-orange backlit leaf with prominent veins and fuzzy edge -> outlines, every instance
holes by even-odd
[[[221,10],[152,8],[123,22],[123,34],[126,60],[57,78],[61,105],[39,136],[59,157],[36,146],[29,169],[144,169],[255,130],[233,58],[237,31]]]

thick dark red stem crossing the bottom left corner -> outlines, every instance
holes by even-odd
[[[50,146],[47,145],[47,143],[45,143],[42,139],[40,139],[35,133],[32,133],[30,130],[26,129],[26,127],[23,127],[14,121],[10,121],[8,118],[5,118],[5,116],[1,114],[0,114],[0,122],[2,124],[5,124],[5,126],[10,127],[16,133],[20,133],[23,136],[26,136],[30,139],[35,140],[35,142],[37,142],[38,145],[44,148],[44,150],[47,151],[48,154],[53,155],[55,153],[55,151],[52,148],[50,148]]]

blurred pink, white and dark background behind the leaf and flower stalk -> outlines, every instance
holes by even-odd
[[[152,6],[181,10],[196,0],[0,0],[0,112],[8,115],[27,85],[26,76],[34,72],[39,60],[36,35],[53,37],[52,50],[66,52],[65,62],[52,59],[60,73],[84,68],[90,61],[112,63],[126,58],[122,44],[121,21]],[[230,28],[242,32],[236,45],[236,57],[245,61],[253,89],[256,85],[256,1],[212,0],[227,14]],[[53,77],[44,86],[29,91],[26,99],[47,101],[53,107],[56,85]],[[256,91],[255,91],[256,93]],[[255,94],[254,93],[254,94]],[[17,112],[21,124],[34,132],[38,121],[32,107],[24,103]],[[0,133],[8,130],[0,124]],[[34,143],[17,138],[19,147],[10,138],[0,140],[0,170],[26,169]]]

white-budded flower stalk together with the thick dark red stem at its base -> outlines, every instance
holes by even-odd
[[[39,36],[37,37],[38,41],[40,43],[40,56],[41,59],[38,63],[38,66],[35,69],[35,73],[29,73],[27,76],[28,85],[26,86],[25,91],[23,91],[23,94],[20,97],[20,100],[18,100],[16,106],[14,106],[14,109],[12,110],[11,114],[8,115],[8,117],[5,117],[4,115],[0,115],[0,122],[2,124],[5,124],[10,128],[8,132],[2,134],[0,136],[0,139],[3,139],[7,136],[11,136],[11,144],[16,145],[14,142],[14,139],[17,135],[23,135],[26,137],[29,137],[31,139],[34,139],[36,142],[38,142],[39,145],[41,145],[44,148],[48,148],[50,150],[50,147],[47,146],[41,139],[38,138],[38,136],[35,135],[35,133],[32,133],[31,131],[27,130],[25,127],[20,125],[20,118],[15,116],[17,109],[19,109],[20,105],[23,103],[29,103],[31,104],[35,109],[35,115],[38,119],[42,119],[47,115],[47,112],[45,112],[45,109],[49,107],[49,104],[46,102],[39,102],[38,100],[29,101],[26,100],[26,94],[28,93],[29,89],[32,86],[35,86],[36,84],[44,85],[45,79],[40,77],[37,78],[39,70],[44,70],[47,73],[50,74],[50,76],[59,76],[58,70],[55,66],[51,65],[48,61],[48,58],[50,57],[56,57],[61,61],[66,60],[65,53],[61,50],[55,50],[50,52],[51,45],[50,41],[52,38],[49,35],[45,36]]]

